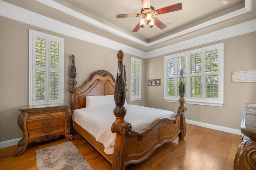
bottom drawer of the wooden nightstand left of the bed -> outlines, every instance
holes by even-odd
[[[28,131],[28,139],[50,135],[50,134],[58,133],[62,131],[64,131],[64,125],[38,129],[34,131]]]

